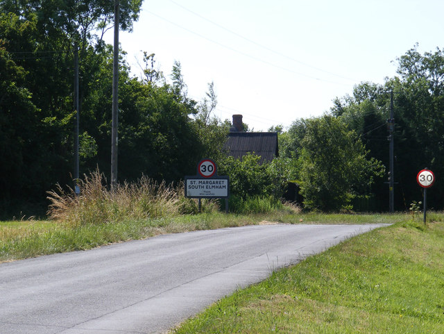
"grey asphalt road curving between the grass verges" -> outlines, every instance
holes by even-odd
[[[0,333],[164,333],[240,287],[382,225],[160,235],[0,265]]]

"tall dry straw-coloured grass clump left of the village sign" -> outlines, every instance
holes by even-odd
[[[49,194],[50,219],[76,226],[109,224],[126,220],[157,219],[196,213],[197,201],[185,198],[183,184],[157,183],[142,176],[135,183],[110,189],[103,173],[96,170],[79,181],[80,194],[60,185]],[[217,210],[216,201],[203,201],[203,210]]]

